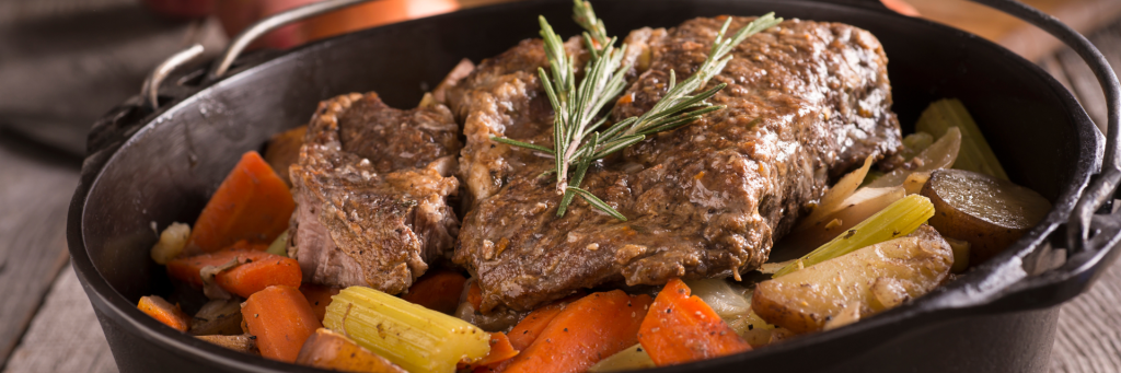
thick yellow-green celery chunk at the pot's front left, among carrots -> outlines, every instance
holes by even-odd
[[[490,334],[474,325],[367,287],[332,297],[323,325],[414,373],[452,373],[490,352]]]

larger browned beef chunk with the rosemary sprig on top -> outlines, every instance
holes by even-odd
[[[617,119],[648,110],[670,69],[692,74],[723,19],[698,18],[639,45],[649,69],[620,99]],[[736,18],[732,29],[750,18]],[[664,36],[663,36],[664,35]],[[484,62],[451,92],[465,123],[460,175],[474,207],[454,261],[479,277],[483,310],[529,309],[608,282],[660,285],[673,277],[739,277],[766,261],[832,177],[900,146],[887,58],[865,30],[788,20],[733,52],[708,83],[728,105],[599,164],[584,187],[626,215],[577,201],[556,217],[552,159],[490,141],[552,146],[552,112],[534,72],[539,41]],[[648,63],[643,62],[648,59]],[[578,199],[578,198],[577,198]]]

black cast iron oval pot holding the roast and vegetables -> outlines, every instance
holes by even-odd
[[[1091,64],[1110,103],[1108,143],[1069,92],[992,43],[892,13],[874,0],[602,0],[611,31],[671,27],[697,16],[761,15],[841,21],[872,31],[890,58],[904,131],[942,97],[974,114],[1009,176],[1054,211],[1001,255],[899,308],[835,330],[659,372],[1041,372],[1058,305],[1085,291],[1115,259],[1121,215],[1101,213],[1118,170],[1117,77],[1085,38],[1011,0],[978,0],[1051,31]],[[411,108],[460,58],[480,60],[536,37],[545,15],[577,30],[567,0],[465,10],[242,57],[231,73],[172,74],[147,102],[133,97],[102,119],[71,204],[73,264],[122,372],[311,372],[242,355],[180,334],[136,309],[170,285],[148,257],[152,224],[193,222],[239,156],[305,123],[321,100],[377,91]],[[182,59],[182,58],[179,58]],[[168,66],[164,66],[168,67]],[[163,77],[167,68],[157,77]],[[92,93],[92,92],[91,92]],[[92,93],[95,94],[95,93]],[[1105,157],[1103,157],[1103,153]]]

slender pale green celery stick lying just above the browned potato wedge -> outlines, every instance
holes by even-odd
[[[802,267],[809,267],[864,246],[908,235],[932,216],[934,216],[934,204],[929,198],[917,194],[909,195],[888,205],[802,259],[787,264],[771,278],[794,272],[798,269],[799,262]]]

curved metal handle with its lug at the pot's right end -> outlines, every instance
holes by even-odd
[[[1003,11],[1057,37],[1090,65],[1097,83],[1105,93],[1108,113],[1106,142],[1102,169],[1094,175],[1068,216],[1066,227],[1066,258],[1062,250],[1051,250],[1051,243],[1037,243],[1028,257],[998,269],[1008,276],[998,276],[998,282],[1012,282],[993,297],[982,297],[989,301],[975,305],[990,313],[1050,308],[1086,291],[1094,281],[1117,260],[1121,250],[1121,211],[1102,212],[1118,197],[1121,183],[1121,86],[1109,62],[1084,36],[1055,17],[1048,16],[1017,0],[972,0]],[[1057,232],[1062,233],[1062,232]],[[1056,242],[1057,243],[1057,242]],[[1062,243],[1058,243],[1062,244]],[[1057,258],[1055,258],[1057,255]],[[1047,257],[1057,264],[1047,265]],[[1032,263],[1035,260],[1035,263]],[[1044,263],[1043,265],[1032,265]],[[1007,283],[1006,282],[1006,283]],[[993,286],[992,288],[1000,288]],[[982,288],[966,291],[985,292]]]

